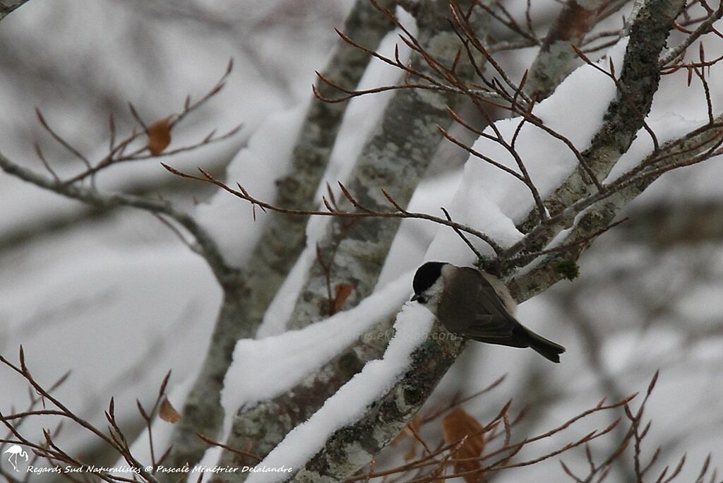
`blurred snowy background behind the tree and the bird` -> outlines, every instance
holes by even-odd
[[[557,5],[539,4],[540,12]],[[288,161],[314,70],[325,64],[337,39],[333,27],[341,27],[350,6],[349,0],[30,1],[0,25],[0,151],[39,170],[33,153],[33,143],[39,142],[59,171],[78,170],[77,161],[42,131],[35,107],[84,153],[98,155],[108,142],[109,112],[119,126],[127,127],[131,119],[126,105],[132,101],[144,119],[161,119],[178,111],[187,93],[204,93],[233,57],[236,68],[226,89],[189,119],[179,138],[194,140],[215,127],[223,130],[239,123],[243,129],[231,140],[178,156],[171,164],[202,166],[218,176],[228,166],[229,180],[243,179],[244,186],[263,197]],[[706,54],[719,55],[721,44],[706,43]],[[393,40],[382,48],[393,48]],[[511,77],[519,78],[534,54],[527,49],[500,58]],[[395,75],[377,65],[364,83],[380,85]],[[713,72],[711,78],[715,76]],[[718,78],[723,78],[720,72]],[[717,112],[723,108],[723,89],[715,82],[711,87]],[[601,90],[596,90],[601,98],[612,95]],[[348,173],[384,98],[351,103],[339,138],[343,142],[335,146],[328,171],[330,181]],[[551,108],[549,121],[559,116],[570,121],[565,123],[569,127],[579,118],[570,117],[575,106],[564,101]],[[666,134],[672,136],[679,134],[672,127],[685,131],[705,116],[699,85],[686,87],[683,73],[664,77],[651,124],[657,123],[661,133],[670,127]],[[578,126],[570,135],[578,135],[578,147],[583,147],[594,126]],[[643,137],[637,143],[637,152],[649,149]],[[456,203],[469,209],[469,200],[481,202],[470,190],[465,192],[468,198],[453,202],[461,163],[439,165],[437,174],[417,190],[411,202],[415,210],[437,214],[439,206],[454,208]],[[660,459],[671,464],[687,453],[689,475],[697,474],[711,451],[721,466],[723,229],[716,231],[709,223],[723,213],[720,179],[718,160],[665,176],[628,210],[630,221],[602,236],[583,256],[577,281],[560,282],[521,305],[518,318],[523,323],[568,348],[560,366],[547,364],[532,351],[473,345],[445,377],[429,407],[458,391],[473,393],[507,374],[500,388],[466,409],[484,421],[513,398],[514,408],[533,409],[534,428],[529,429],[544,430],[600,398],[644,390],[661,369],[646,413],[654,422],[648,449],[662,445]],[[239,265],[263,223],[261,217],[254,225],[250,209],[238,200],[176,179],[153,161],[114,168],[100,176],[99,184],[161,194],[194,210]],[[195,202],[201,204],[194,207]],[[511,202],[502,208],[522,207]],[[662,213],[676,212],[683,214],[671,216],[671,224],[688,217],[693,228],[680,234],[654,223],[665,219]],[[515,219],[519,213],[505,215]],[[318,233],[322,223],[314,221],[309,234]],[[380,291],[404,299],[408,290],[399,288],[400,277],[408,277],[425,254],[452,260],[455,253],[463,253],[456,248],[450,252],[448,247],[458,243],[453,234],[449,242],[437,237],[427,252],[436,235],[437,228],[429,223],[404,222],[382,271]],[[312,259],[302,258],[297,269]],[[287,287],[286,295],[273,304],[262,335],[281,332],[280,321],[293,299],[294,287]],[[72,371],[57,396],[91,422],[103,423],[102,408],[114,396],[119,419],[130,432],[140,431],[134,399],[152,401],[168,369],[173,370],[171,401],[179,406],[184,383],[192,380],[205,354],[220,300],[221,290],[200,257],[147,213],[88,210],[0,176],[0,354],[14,359],[22,344],[33,375],[48,385]],[[266,343],[278,344],[276,350],[283,354],[284,347],[300,340]],[[244,353],[266,353],[262,347],[249,343]],[[254,361],[249,364],[253,367]],[[26,395],[25,382],[0,369],[0,410],[22,409]],[[224,397],[236,397],[237,402],[244,396]],[[93,450],[85,435],[72,428],[59,440],[72,451]],[[542,444],[552,448],[554,443]],[[575,461],[565,458],[570,460]],[[560,481],[559,463],[546,464],[505,472],[499,481],[525,481],[531,475],[541,482]]]

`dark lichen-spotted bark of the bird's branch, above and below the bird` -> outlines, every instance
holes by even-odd
[[[657,62],[659,52],[662,51],[672,28],[672,22],[682,7],[683,1],[649,1],[636,17],[621,77],[615,82],[617,95],[607,106],[608,114],[604,118],[606,124],[593,137],[591,147],[584,153],[590,166],[593,166],[596,176],[604,177],[609,174],[620,154],[628,150],[638,130],[645,125],[644,117],[649,110],[660,75]],[[690,156],[688,158],[690,159]],[[579,167],[576,174],[565,181],[562,192],[560,190],[555,192],[551,198],[552,205],[559,204],[553,207],[554,210],[550,210],[551,213],[564,211],[568,206],[594,193],[594,185],[589,179],[585,181],[584,176],[586,175],[583,169]],[[629,181],[625,186],[633,186],[633,181]],[[625,186],[620,185],[618,191],[622,192]],[[607,193],[603,195],[601,192],[598,192],[598,195],[601,200],[608,196]],[[578,206],[578,208],[576,213],[588,207]],[[599,230],[604,228],[610,219],[612,217],[601,220],[601,223],[585,223],[585,226],[586,228],[594,226],[595,230]],[[543,226],[542,223],[539,226]],[[552,236],[547,240],[550,239]],[[512,252],[517,251],[513,247]],[[534,272],[534,269],[532,271]],[[547,280],[536,288],[544,289],[551,283],[552,280]],[[531,294],[518,293],[518,298],[524,299],[529,295]],[[435,326],[433,330],[444,329]],[[435,340],[435,343],[427,341],[411,354],[411,363],[406,375],[372,406],[364,418],[350,427],[341,429],[336,437],[328,440],[325,448],[309,461],[304,472],[300,474],[302,479],[306,471],[331,479],[348,476],[350,470],[348,462],[353,461],[358,465],[362,461],[369,461],[375,449],[384,447],[396,436],[400,427],[411,419],[411,415],[419,409],[422,401],[426,400],[438,378],[445,373],[445,363],[451,364],[455,354],[463,348],[463,344],[458,342],[450,343],[446,339],[439,342],[438,338],[432,340]],[[354,443],[348,439],[348,435],[356,435]],[[359,440],[366,441],[367,445],[370,445],[369,448],[360,447]]]

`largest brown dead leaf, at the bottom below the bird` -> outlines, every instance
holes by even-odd
[[[482,424],[462,408],[455,409],[442,419],[442,435],[445,443],[456,445],[452,457],[455,460],[455,471],[463,473],[480,469],[479,461],[458,461],[466,458],[479,458],[484,450],[484,435]],[[469,474],[464,476],[467,483],[479,482],[482,474]]]

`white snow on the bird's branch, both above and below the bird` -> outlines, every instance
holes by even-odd
[[[616,64],[620,64],[625,45],[626,42],[621,41],[611,51],[610,56]],[[601,62],[607,65],[607,59]],[[599,92],[594,102],[589,100],[591,85]],[[535,114],[549,127],[565,134],[578,150],[583,150],[602,126],[602,113],[614,96],[614,83],[594,67],[586,65],[573,72],[554,95],[536,108]],[[582,99],[587,102],[583,103]],[[558,115],[560,112],[562,115]],[[496,126],[505,140],[511,142],[518,123],[518,119],[509,119],[498,122]],[[487,129],[487,132],[491,133],[492,129]],[[495,161],[515,168],[512,156],[495,142],[480,138],[474,148],[491,156]],[[575,156],[562,142],[535,127],[526,126],[521,129],[517,149],[542,196],[552,192],[577,165]],[[529,190],[520,181],[502,173],[499,168],[471,157],[465,165],[461,184],[450,205],[450,213],[455,221],[469,223],[473,228],[492,236],[502,246],[508,246],[522,236],[515,228],[515,221],[520,221],[532,206]],[[474,254],[453,231],[440,228],[425,259],[468,265],[474,261]],[[406,306],[398,316],[397,323],[419,325],[420,322],[414,320],[415,317],[424,317],[424,320],[430,322],[432,320],[429,312],[422,307]],[[393,341],[395,340],[396,337]],[[368,404],[382,396],[401,374],[406,367],[408,354],[414,350],[419,339],[413,343],[408,340],[405,342],[403,349],[390,343],[385,359],[367,364],[359,375],[344,385],[308,422],[289,433],[260,466],[291,465],[299,468],[321,448],[336,429],[355,422],[364,414]],[[298,344],[296,347],[298,351]],[[400,351],[403,357],[397,351]],[[251,353],[250,357],[256,356]],[[372,379],[375,381],[373,384]],[[264,477],[268,478],[269,475],[265,474]],[[259,481],[256,478],[252,475],[249,481]]]

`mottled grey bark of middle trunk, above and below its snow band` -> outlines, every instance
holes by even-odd
[[[431,0],[417,5],[415,15],[419,33],[415,36],[408,30],[404,33],[408,35],[408,43],[425,53],[418,53],[411,61],[414,69],[432,72],[427,63],[429,56],[443,58],[458,48],[458,37],[450,31],[448,23],[448,7],[445,1]],[[380,9],[384,10],[381,6]],[[390,12],[385,13],[395,19]],[[463,75],[465,67],[461,65],[459,69],[460,75]],[[471,74],[469,66],[466,72]],[[407,205],[442,139],[435,126],[450,124],[446,106],[453,102],[453,96],[444,92],[396,91],[349,175],[348,192],[353,193],[354,199],[367,210],[388,210],[390,200],[378,189],[381,185],[394,187],[389,195],[399,206]],[[408,119],[409,122],[399,124],[399,119]],[[354,208],[354,204],[345,197],[338,201],[340,210],[346,210],[346,206]],[[332,284],[348,283],[354,287],[346,300],[351,306],[371,294],[382,268],[377,260],[382,260],[388,252],[398,226],[398,221],[385,221],[379,217],[352,219],[351,223],[344,218],[333,219],[317,242],[322,256],[328,259],[327,268],[324,269],[321,264],[311,268],[288,321],[288,328],[302,328],[328,315],[330,282],[327,273],[333,275]],[[374,354],[380,354],[380,349],[383,346],[377,347]],[[341,377],[334,375],[325,380],[323,391],[313,381],[301,382],[297,390],[291,391],[292,401],[284,405],[294,408],[292,413],[279,414],[271,409],[279,407],[278,401],[272,401],[268,406],[260,403],[254,409],[247,409],[252,411],[248,418],[244,418],[243,413],[236,416],[228,444],[244,447],[251,443],[257,448],[257,454],[264,456],[293,429],[296,422],[313,414],[335,392],[335,388],[361,369],[361,362],[355,359],[356,356],[345,359],[342,365],[348,369],[342,369]],[[304,390],[304,385],[309,382],[311,385],[307,387],[313,389]]]

